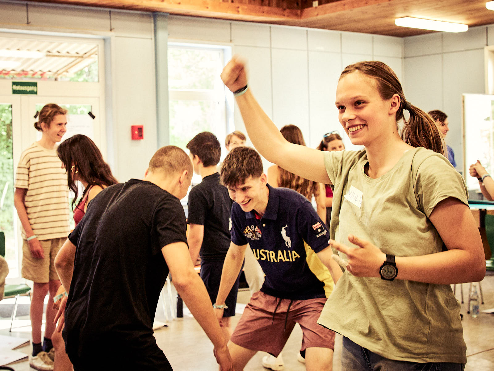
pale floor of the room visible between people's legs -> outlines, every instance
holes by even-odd
[[[479,317],[472,318],[467,315],[468,284],[463,284],[465,303],[462,304],[464,338],[467,344],[467,365],[465,371],[494,371],[494,314],[481,313]],[[482,281],[485,304],[482,309],[494,308],[494,273],[488,275]],[[459,287],[456,296],[460,299]],[[248,300],[248,291],[239,294],[239,302]],[[0,304],[1,305],[1,304]],[[164,321],[164,312],[159,305],[157,320]],[[240,316],[236,316],[234,324]],[[29,325],[29,318],[23,317],[14,323],[15,325]],[[0,320],[0,334],[8,335],[9,320]],[[15,329],[14,336],[30,337],[29,326]],[[212,345],[197,322],[187,315],[181,320],[169,323],[168,327],[155,331],[158,345],[165,351],[175,371],[217,371],[212,355]],[[300,346],[301,330],[298,326],[293,330],[288,343],[283,351],[285,370],[303,371],[305,366],[297,361],[297,353]],[[31,346],[25,346],[20,350],[26,354],[31,351]],[[341,336],[337,335],[333,371],[340,371],[339,355],[341,353]],[[261,366],[263,354],[258,353],[247,364],[246,371],[266,370]],[[21,361],[10,365],[16,371],[31,371],[27,361]]]

